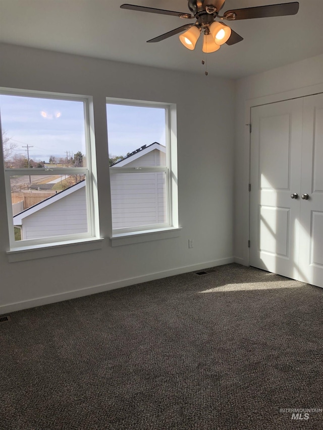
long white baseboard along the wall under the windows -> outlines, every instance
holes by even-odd
[[[120,281],[110,282],[107,284],[96,285],[92,287],[72,290],[65,293],[52,294],[30,300],[19,301],[15,303],[4,304],[0,306],[0,315],[11,312],[21,311],[23,309],[35,308],[44,304],[56,303],[58,301],[70,300],[72,298],[83,297],[90,294],[100,293],[103,291],[114,290],[117,288],[128,287],[129,285],[140,284],[142,282],[153,281],[155,279],[166,278],[168,276],[180,275],[182,273],[194,272],[195,270],[207,269],[224,264],[235,263],[235,257],[223,258],[220,260],[207,261],[205,263],[194,264],[191,266],[178,267],[176,269],[165,270],[161,272],[149,273],[135,278],[122,279]],[[237,261],[237,263],[239,263]]]

